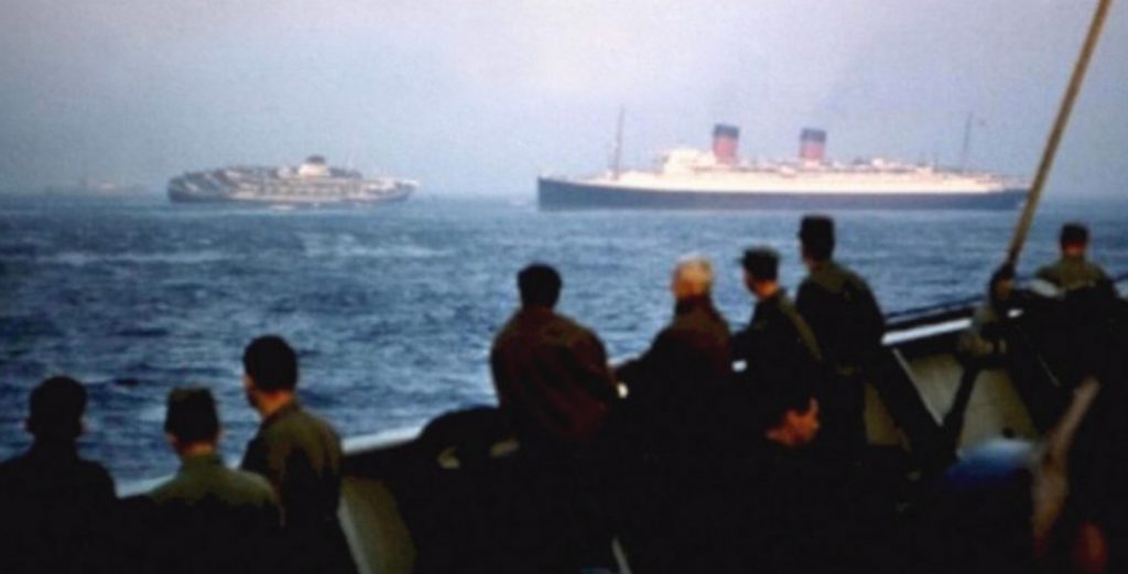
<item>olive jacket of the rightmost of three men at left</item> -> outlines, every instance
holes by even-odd
[[[247,444],[243,469],[264,476],[282,504],[280,548],[296,572],[353,572],[337,520],[341,438],[293,401],[263,421]]]

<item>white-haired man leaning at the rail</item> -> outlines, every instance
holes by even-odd
[[[646,353],[616,369],[628,389],[617,429],[619,536],[640,574],[704,565],[711,535],[685,536],[670,524],[704,519],[699,475],[703,459],[714,453],[712,418],[730,385],[729,326],[713,307],[712,286],[708,259],[679,259],[670,281],[672,320]]]

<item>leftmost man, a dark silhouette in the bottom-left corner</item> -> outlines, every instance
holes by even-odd
[[[27,453],[0,463],[0,572],[104,572],[114,483],[78,456],[86,389],[52,377],[32,391]]]

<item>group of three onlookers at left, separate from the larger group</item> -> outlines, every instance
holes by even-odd
[[[36,387],[34,443],[0,465],[0,572],[352,572],[337,521],[341,439],[298,401],[297,354],[263,336],[243,363],[262,423],[241,468],[220,459],[211,391],[178,387],[165,434],[179,470],[121,501],[106,470],[78,456],[86,389],[67,377]]]

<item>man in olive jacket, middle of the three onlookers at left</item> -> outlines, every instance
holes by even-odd
[[[147,571],[173,573],[275,572],[282,516],[262,476],[223,466],[219,416],[211,391],[176,388],[168,395],[165,436],[180,469],[148,497]]]

